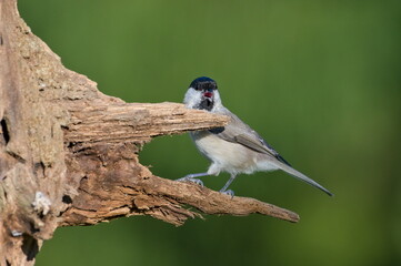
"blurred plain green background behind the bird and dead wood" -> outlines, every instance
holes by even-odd
[[[20,0],[64,65],[128,102],[181,102],[213,78],[224,104],[335,197],[281,172],[231,188],[301,215],[150,217],[60,228],[37,265],[401,265],[401,1]],[[173,160],[171,157],[173,154]],[[178,178],[208,161],[188,135],[141,162]],[[204,177],[219,190],[228,175]]]

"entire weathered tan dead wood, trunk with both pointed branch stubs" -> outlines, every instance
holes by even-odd
[[[154,136],[227,120],[178,103],[102,94],[32,34],[17,0],[0,0],[0,264],[34,264],[59,226],[121,216],[181,225],[201,213],[259,213],[298,222],[271,204],[154,176],[138,161]]]

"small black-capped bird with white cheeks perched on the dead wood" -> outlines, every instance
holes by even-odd
[[[254,130],[224,108],[214,80],[207,76],[193,80],[183,102],[189,109],[227,115],[230,122],[222,127],[190,133],[198,150],[211,161],[211,165],[205,173],[189,174],[178,181],[190,181],[203,185],[197,177],[227,172],[230,178],[220,192],[233,196],[234,192],[228,187],[238,174],[282,170],[332,196],[327,188],[292,168]]]

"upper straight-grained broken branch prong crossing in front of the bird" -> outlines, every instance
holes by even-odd
[[[71,121],[64,133],[66,141],[73,143],[139,143],[227,122],[224,116],[188,110],[181,103],[113,103],[103,99],[96,104],[71,105]]]

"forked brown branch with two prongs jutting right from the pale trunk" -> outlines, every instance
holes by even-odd
[[[96,224],[131,215],[151,215],[181,225],[188,217],[201,216],[184,205],[205,214],[259,213],[290,222],[299,219],[292,212],[257,200],[231,198],[207,187],[153,176],[139,164],[138,151],[151,136],[221,126],[228,117],[188,110],[178,103],[90,104],[70,111],[71,122],[64,131],[68,172],[79,176],[70,182],[80,184],[72,205],[62,215],[62,225]]]

